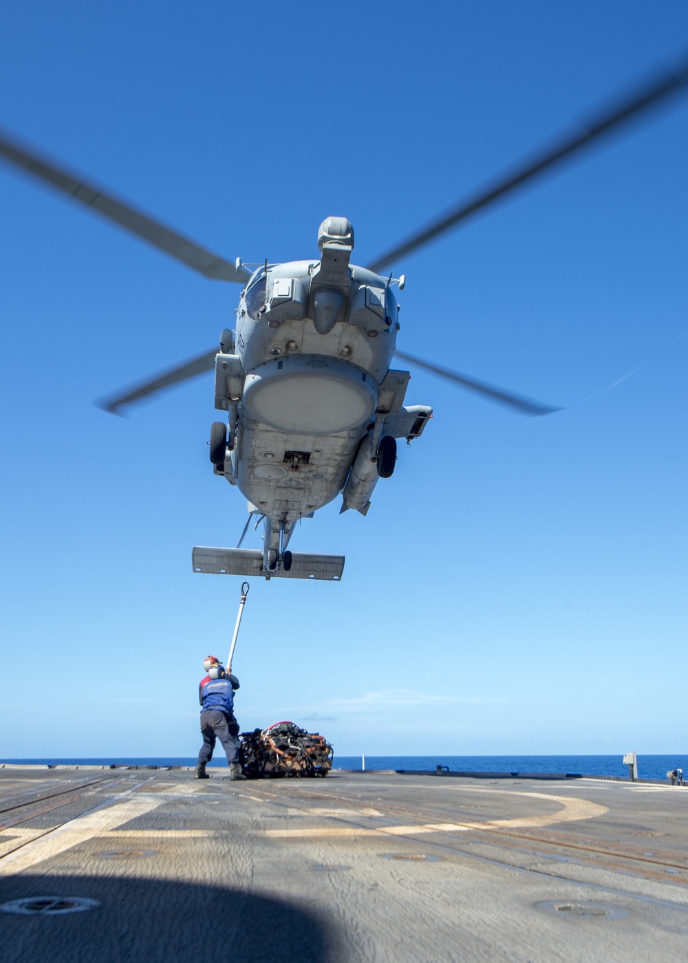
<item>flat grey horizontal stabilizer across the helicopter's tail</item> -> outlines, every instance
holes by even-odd
[[[310,555],[307,552],[292,553],[291,568],[285,572],[276,568],[270,572],[274,579],[313,579],[314,581],[339,582],[344,571],[343,555]],[[265,575],[263,553],[259,549],[207,548],[196,545],[193,553],[195,572],[208,575]]]

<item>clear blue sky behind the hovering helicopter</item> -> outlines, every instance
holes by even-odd
[[[0,123],[229,259],[311,257],[344,215],[365,264],[688,47],[679,2],[256,10],[14,4]],[[565,410],[414,371],[435,418],[368,516],[294,536],[346,555],[341,584],[251,584],[245,728],[685,749],[687,121],[684,97],[398,266],[402,350]],[[207,459],[212,381],[126,419],[93,400],[212,347],[239,292],[5,166],[0,197],[0,756],[192,755],[241,580],[191,548],[246,517]]]

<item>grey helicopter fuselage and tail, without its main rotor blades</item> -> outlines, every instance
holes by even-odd
[[[350,265],[354,229],[345,218],[323,221],[318,247],[319,261],[251,275],[234,351],[216,356],[215,406],[227,425],[213,426],[210,459],[263,516],[263,552],[197,547],[197,572],[338,580],[342,557],[288,551],[294,526],[340,492],[342,511],[366,514],[375,485],[394,470],[396,438],[418,437],[432,414],[404,407],[410,374],[389,367],[399,282]]]

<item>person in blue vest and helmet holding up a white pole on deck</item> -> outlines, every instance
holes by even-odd
[[[196,778],[210,778],[205,767],[213,758],[215,742],[219,739],[225,749],[230,779],[246,779],[239,763],[239,724],[234,718],[234,692],[239,680],[220,664],[217,656],[203,660],[208,673],[200,680],[198,702],[200,703],[200,734],[203,744],[198,753]]]

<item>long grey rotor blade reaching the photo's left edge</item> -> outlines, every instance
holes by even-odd
[[[220,257],[219,254],[213,254],[205,247],[200,247],[195,241],[177,234],[160,221],[153,221],[125,201],[118,200],[115,196],[82,180],[78,175],[40,157],[24,144],[14,141],[7,133],[4,135],[0,133],[0,157],[34,174],[35,177],[51,184],[74,200],[80,201],[110,221],[115,221],[120,227],[124,227],[148,244],[165,251],[177,261],[181,261],[182,264],[206,277],[216,281],[246,283],[248,274],[237,271],[233,264],[225,261],[225,258]]]

